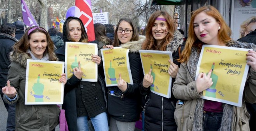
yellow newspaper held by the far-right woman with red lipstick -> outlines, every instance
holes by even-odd
[[[244,84],[249,65],[246,64],[248,50],[218,45],[203,45],[197,64],[199,72],[213,69],[213,85],[203,91],[202,98],[234,106],[242,106]]]

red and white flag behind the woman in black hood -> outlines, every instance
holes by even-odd
[[[88,41],[95,40],[91,0],[76,0],[75,5],[75,17],[83,21],[88,35]]]

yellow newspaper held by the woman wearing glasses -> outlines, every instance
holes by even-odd
[[[117,86],[119,74],[127,83],[133,84],[128,53],[129,49],[121,47],[101,49],[106,86]]]

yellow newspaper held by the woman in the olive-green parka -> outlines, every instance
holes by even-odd
[[[64,62],[27,60],[25,105],[63,104]]]

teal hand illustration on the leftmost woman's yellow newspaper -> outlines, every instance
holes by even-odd
[[[40,74],[38,74],[37,77],[37,83],[34,83],[32,89],[35,92],[34,97],[35,97],[35,102],[43,102],[43,89],[44,85],[40,83]]]

